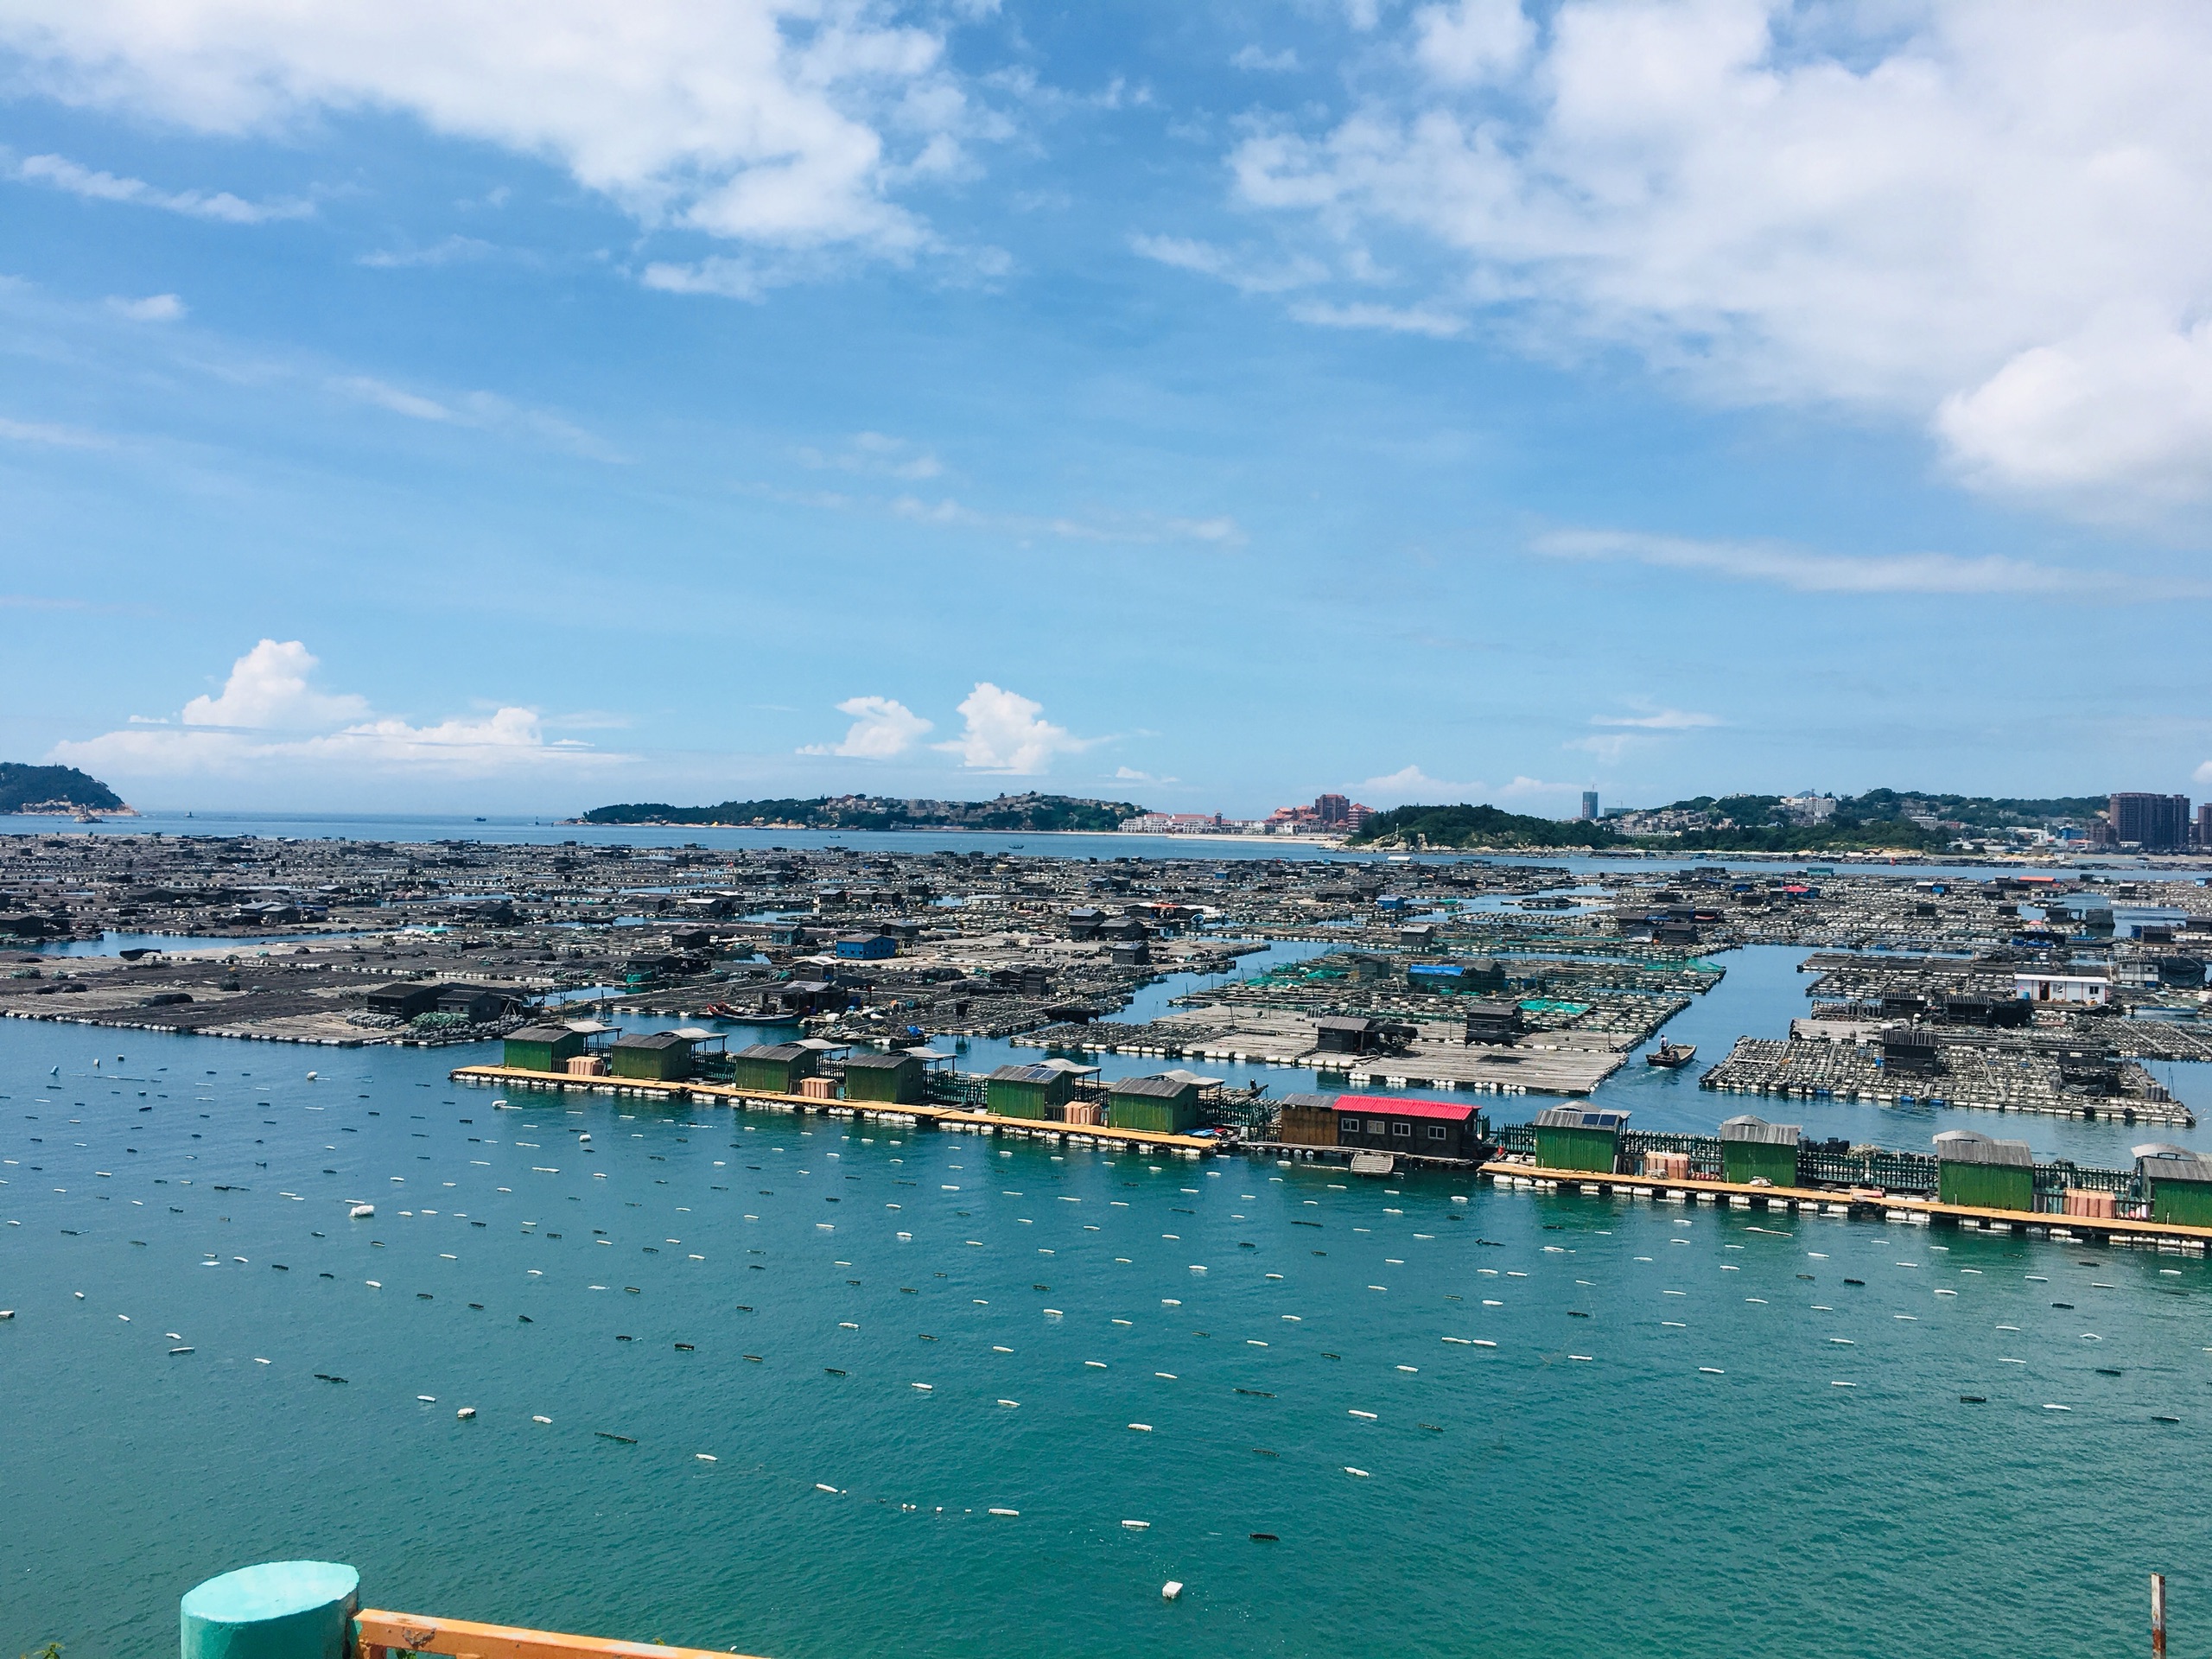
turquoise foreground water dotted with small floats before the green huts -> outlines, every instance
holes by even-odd
[[[0,1650],[166,1652],[283,1555],[792,1657],[2097,1652],[2168,1571],[2208,1650],[2194,1259],[465,1057],[0,1029]]]

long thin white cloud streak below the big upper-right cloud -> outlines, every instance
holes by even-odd
[[[1787,542],[1701,542],[1632,531],[1555,531],[1533,542],[1555,560],[1632,560],[1661,571],[1703,571],[1736,582],[1774,582],[1798,593],[2017,593],[2097,595],[2106,599],[2188,597],[2203,584],[2161,584],[2062,571],[2051,564],[1989,553],[1880,553],[1849,557],[1814,553]]]

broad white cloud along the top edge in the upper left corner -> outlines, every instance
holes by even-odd
[[[71,104],[226,135],[403,113],[774,248],[925,250],[889,188],[989,131],[942,35],[867,0],[15,0],[0,42]]]

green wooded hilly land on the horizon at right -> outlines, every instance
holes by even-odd
[[[1699,794],[1601,818],[1535,818],[1489,805],[1394,807],[1352,847],[1663,847],[1668,852],[1942,852],[1955,841],[2095,841],[2110,796],[2011,799],[1865,794]]]

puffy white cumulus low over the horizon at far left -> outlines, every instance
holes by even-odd
[[[124,779],[285,772],[557,776],[630,759],[573,739],[546,741],[544,719],[531,708],[451,714],[429,726],[374,714],[365,697],[316,688],[316,657],[299,639],[263,639],[230,666],[221,692],[195,697],[175,723],[133,717],[124,730],[55,743],[46,759]]]

